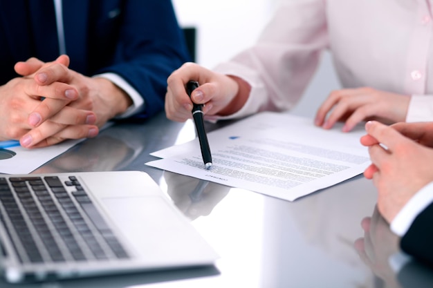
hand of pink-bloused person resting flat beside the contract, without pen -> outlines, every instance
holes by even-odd
[[[346,122],[342,131],[351,131],[365,119],[387,122],[405,121],[410,97],[373,88],[335,90],[323,102],[315,116],[315,124],[331,128],[335,122]],[[329,113],[328,119],[326,115]]]

